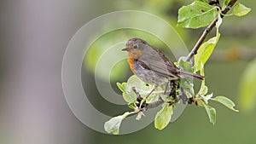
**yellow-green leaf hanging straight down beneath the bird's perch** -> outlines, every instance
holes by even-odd
[[[173,106],[168,103],[163,104],[163,108],[156,113],[154,118],[154,127],[158,130],[163,130],[169,124],[173,112]]]

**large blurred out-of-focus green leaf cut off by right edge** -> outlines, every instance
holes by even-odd
[[[252,60],[245,68],[239,89],[241,107],[252,110],[256,102],[256,59]]]

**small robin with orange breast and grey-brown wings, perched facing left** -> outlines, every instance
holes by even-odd
[[[171,60],[166,58],[160,49],[155,49],[146,41],[140,38],[131,38],[127,41],[125,49],[128,54],[128,63],[138,78],[147,84],[153,84],[156,87],[166,85],[169,81],[179,78],[198,78],[203,79],[201,75],[184,72],[175,66]],[[154,89],[150,92],[152,93]]]

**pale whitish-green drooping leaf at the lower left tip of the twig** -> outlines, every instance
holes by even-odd
[[[134,112],[125,112],[123,115],[113,117],[109,119],[104,124],[105,131],[108,132],[108,134],[113,133],[113,135],[119,135],[119,127],[122,123],[122,120],[126,118],[127,116],[131,115]]]

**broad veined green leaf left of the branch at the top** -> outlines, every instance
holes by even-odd
[[[206,2],[196,0],[178,10],[177,26],[199,28],[209,25],[218,11]]]

